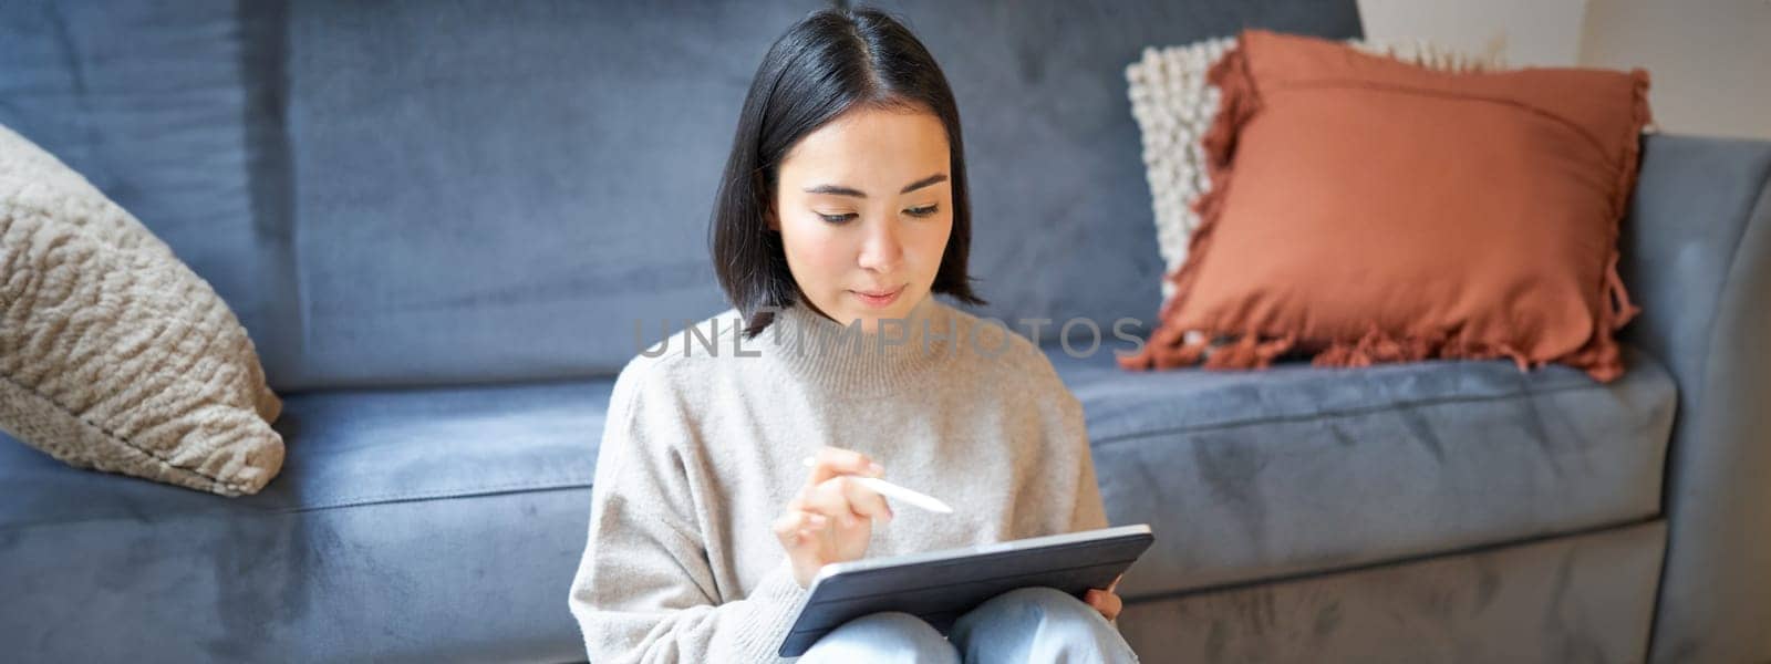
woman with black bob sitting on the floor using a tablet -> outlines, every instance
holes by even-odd
[[[776,41],[712,220],[735,310],[641,352],[609,402],[570,597],[590,660],[774,660],[825,563],[1107,526],[1052,365],[933,297],[981,305],[969,212],[958,110],[909,30],[824,11]],[[848,480],[887,471],[955,513]],[[800,660],[1135,660],[1119,607],[1022,588],[949,637],[877,613]]]

